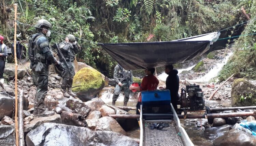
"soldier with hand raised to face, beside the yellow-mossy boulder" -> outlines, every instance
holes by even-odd
[[[61,72],[61,76],[62,76],[61,88],[63,90],[63,96],[64,97],[76,96],[76,94],[74,94],[71,89],[72,83],[73,83],[73,77],[75,75],[75,70],[74,70],[75,54],[78,52],[75,36],[71,34],[67,35],[65,41],[59,43],[58,47],[69,66],[67,67],[65,65],[64,63],[65,60],[62,60],[62,58],[60,59],[60,62],[62,62],[63,67],[65,68],[65,70]]]

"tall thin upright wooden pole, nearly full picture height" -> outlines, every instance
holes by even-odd
[[[17,4],[14,4],[14,60],[15,60],[15,131],[16,131],[16,146],[19,146],[18,134],[18,93],[17,93],[17,55],[16,55],[16,35],[17,35]]]

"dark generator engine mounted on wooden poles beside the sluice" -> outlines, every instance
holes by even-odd
[[[183,87],[181,89],[181,107],[189,111],[204,110],[203,96],[204,94],[199,85],[186,86],[186,89]]]

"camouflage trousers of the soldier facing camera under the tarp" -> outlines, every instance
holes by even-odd
[[[115,102],[121,93],[122,90],[125,92],[124,103],[129,101],[130,89],[127,87],[126,83],[122,83],[123,86],[116,85],[114,95],[112,97],[112,101]]]

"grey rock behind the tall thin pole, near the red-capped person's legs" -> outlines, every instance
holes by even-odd
[[[18,78],[23,78],[26,74],[27,70],[22,66],[18,66],[17,76]],[[9,76],[15,76],[15,64],[14,63],[6,63],[4,68],[4,74]]]

